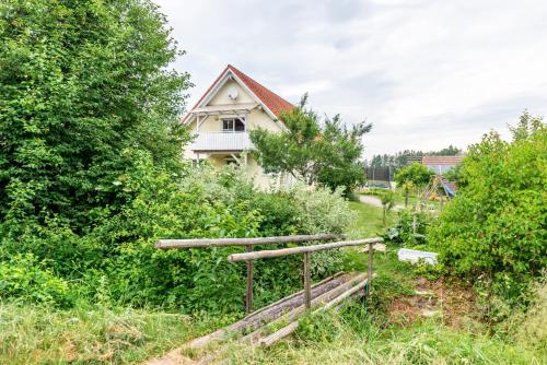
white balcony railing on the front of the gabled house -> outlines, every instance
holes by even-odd
[[[190,145],[194,152],[243,151],[253,148],[247,132],[199,133]]]

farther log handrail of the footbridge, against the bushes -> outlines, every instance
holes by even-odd
[[[256,238],[200,238],[200,239],[160,239],[155,247],[160,249],[170,248],[200,248],[219,246],[248,246],[248,245],[271,245],[290,244],[312,240],[342,239],[346,235],[321,233],[316,235],[295,235],[277,237],[256,237]]]

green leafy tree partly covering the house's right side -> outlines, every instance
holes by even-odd
[[[348,129],[339,115],[322,123],[317,114],[306,108],[306,103],[304,95],[298,107],[281,114],[286,131],[251,131],[255,154],[266,170],[289,173],[307,185],[318,182],[333,190],[344,186],[349,193],[364,181],[359,163],[363,151],[361,137],[372,126],[361,122]]]

